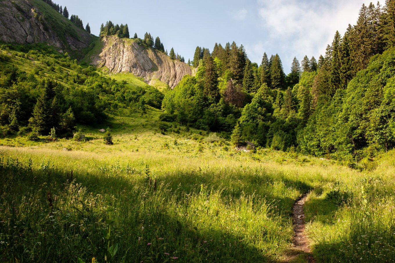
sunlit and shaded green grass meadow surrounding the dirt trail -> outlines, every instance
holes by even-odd
[[[174,123],[161,134],[159,114],[81,126],[85,142],[1,139],[1,261],[283,262],[310,192],[317,262],[393,262],[393,151],[359,172]]]

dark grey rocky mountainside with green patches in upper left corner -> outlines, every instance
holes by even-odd
[[[87,47],[94,36],[42,0],[0,0],[0,41],[47,43],[59,50]]]

